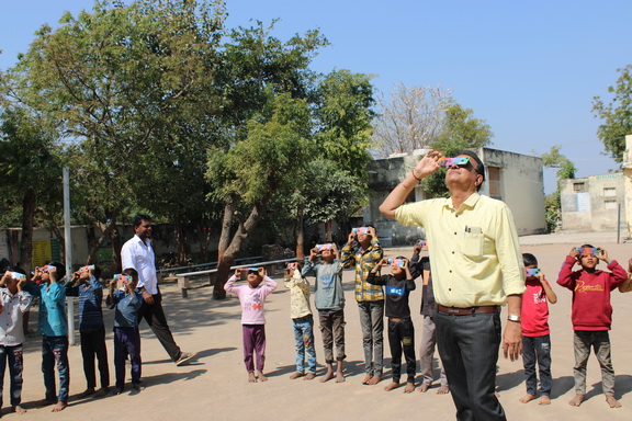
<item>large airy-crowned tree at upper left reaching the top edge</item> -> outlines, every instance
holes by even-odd
[[[72,143],[76,180],[92,187],[81,197],[91,210],[83,217],[114,240],[115,261],[116,223],[146,187],[138,180],[173,163],[146,158],[187,130],[206,133],[221,106],[213,76],[224,18],[221,2],[97,1],[92,13],[65,14],[55,31],[43,26],[3,78],[14,101],[58,122]]]

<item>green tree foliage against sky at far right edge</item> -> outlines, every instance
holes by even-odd
[[[603,121],[597,129],[597,136],[606,151],[614,161],[622,162],[625,135],[632,134],[632,65],[617,71],[621,73],[617,86],[608,87],[608,92],[613,94],[612,100],[606,104],[599,96],[595,96],[592,113]]]

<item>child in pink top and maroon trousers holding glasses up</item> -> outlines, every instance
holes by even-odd
[[[241,271],[248,274],[246,285],[235,285]],[[264,281],[264,282],[263,282]],[[266,317],[263,316],[263,304],[266,297],[276,289],[276,283],[272,281],[263,268],[236,269],[224,289],[239,297],[241,304],[241,328],[244,335],[244,363],[248,371],[248,382],[256,383],[268,380],[263,375],[263,364],[266,363]],[[252,361],[252,354],[257,354],[257,371]]]

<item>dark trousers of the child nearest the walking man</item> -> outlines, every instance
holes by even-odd
[[[136,328],[114,327],[114,371],[116,373],[116,388],[123,389],[125,385],[125,361],[129,355],[132,363],[132,384],[140,383],[140,332]]]

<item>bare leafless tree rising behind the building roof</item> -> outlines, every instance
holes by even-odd
[[[376,155],[408,152],[428,148],[443,129],[452,90],[440,87],[406,87],[402,82],[390,94],[382,95],[373,125]]]

